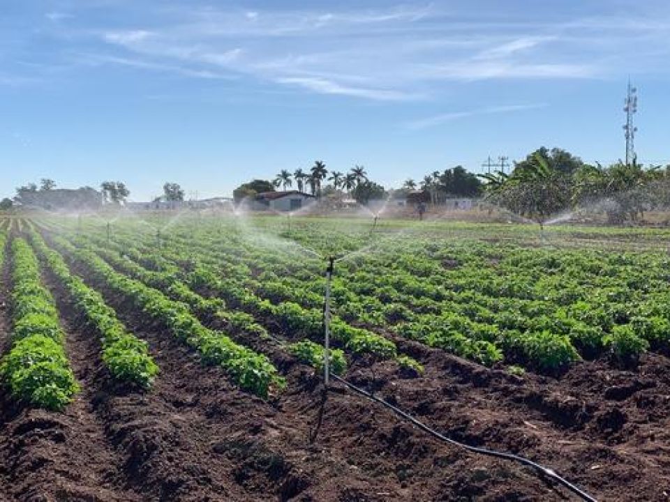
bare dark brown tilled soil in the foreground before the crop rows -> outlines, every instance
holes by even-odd
[[[440,443],[341,388],[328,394],[318,427],[319,379],[277,347],[269,355],[288,389],[264,402],[91,284],[161,367],[149,393],[114,385],[95,334],[48,282],[84,391],[66,413],[3,411],[0,488],[10,487],[9,500],[574,500],[525,467]],[[585,362],[552,379],[487,370],[412,342],[401,349],[424,363],[422,377],[359,360],[348,380],[454,439],[549,466],[599,500],[670,500],[667,357],[645,356],[636,370]]]

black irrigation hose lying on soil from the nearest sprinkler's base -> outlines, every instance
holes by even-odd
[[[355,392],[359,393],[360,395],[363,395],[364,397],[367,397],[369,400],[372,400],[374,402],[378,402],[379,404],[382,404],[386,406],[388,409],[392,410],[396,415],[401,416],[405,420],[408,420],[412,424],[416,425],[419,427],[419,429],[422,429],[424,432],[428,432],[432,436],[435,436],[436,438],[440,439],[441,441],[444,441],[445,443],[452,444],[454,446],[458,446],[459,448],[465,448],[468,451],[479,453],[481,455],[489,455],[489,457],[498,457],[506,460],[513,460],[514,462],[519,462],[520,464],[524,464],[526,466],[532,467],[536,471],[539,471],[539,473],[542,473],[544,476],[547,476],[551,478],[552,480],[560,483],[560,485],[563,485],[565,488],[569,489],[571,492],[574,494],[578,495],[581,497],[582,500],[588,501],[588,502],[597,502],[596,499],[594,499],[592,496],[587,494],[586,492],[583,492],[581,489],[573,485],[571,482],[568,480],[565,480],[564,478],[561,478],[556,474],[554,471],[551,469],[548,469],[544,466],[541,466],[540,464],[537,464],[533,462],[532,460],[529,460],[524,457],[519,457],[519,455],[514,455],[513,453],[505,453],[505,452],[498,452],[496,450],[488,450],[486,448],[477,448],[477,446],[470,446],[465,443],[459,443],[459,441],[456,441],[454,439],[448,438],[447,436],[440,434],[439,432],[435,431],[434,429],[431,429],[428,425],[425,425],[424,423],[419,422],[416,418],[410,416],[408,413],[405,413],[405,411],[402,411],[401,409],[397,408],[393,404],[390,404],[386,402],[385,400],[380,399],[379,397],[376,397],[375,395],[368,393],[367,390],[363,390],[362,388],[359,388],[352,383],[349,383],[345,379],[342,379],[338,377],[336,374],[331,374],[330,377],[336,381],[339,381],[343,383],[345,386],[348,388],[354,390]]]

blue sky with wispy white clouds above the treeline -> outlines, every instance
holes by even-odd
[[[670,162],[666,0],[6,2],[0,196],[54,178],[165,181],[201,197],[251,176],[366,167],[400,185],[545,145]]]

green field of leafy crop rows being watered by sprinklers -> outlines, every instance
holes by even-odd
[[[606,417],[613,412],[603,396],[619,390],[607,389],[627,379],[634,389],[620,392],[623,400],[632,400],[636,390],[652,385],[649,374],[669,367],[669,243],[665,229],[539,229],[435,220],[188,212],[172,218],[158,213],[6,218],[0,221],[8,303],[0,363],[5,400],[67,415],[87,396],[114,396],[124,389],[122,395],[135,395],[146,409],[137,404],[135,414],[114,415],[118,398],[106,397],[112,411],[99,420],[131,423],[154,413],[151,406],[160,403],[153,400],[165,395],[186,395],[170,402],[202,399],[202,389],[188,390],[193,382],[176,383],[175,365],[186,365],[196,377],[214,372],[224,379],[228,390],[208,387],[207,395],[234,393],[255,406],[250,416],[270,413],[262,411],[269,406],[282,427],[309,423],[307,403],[315,398],[306,382],[318,381],[324,369],[325,271],[332,258],[332,374],[385,389],[387,397],[394,395],[415,412],[421,403],[440,406],[435,396],[422,393],[420,402],[412,397],[426,386],[447,393],[458,406],[467,407],[472,399],[488,424],[484,430],[474,422],[459,426],[465,429],[442,425],[475,443],[494,430],[510,434],[526,413],[530,422],[523,423],[543,438],[531,441],[535,446],[526,448],[528,455],[542,459],[543,448],[549,448],[542,445],[555,441],[561,430],[570,431],[583,448],[588,441],[609,448],[604,445],[611,434],[624,442],[639,437],[621,436],[626,418],[610,430]],[[80,346],[87,347],[92,365],[85,372]],[[593,372],[595,381],[579,376],[584,372]],[[459,397],[463,390],[455,386],[462,385],[470,397]],[[487,386],[493,397],[481,394]],[[625,417],[646,420],[655,432],[667,420],[667,414],[665,419],[655,415],[670,404],[663,397],[667,374],[653,386],[660,394],[651,404],[620,404],[649,408],[646,415],[633,418],[627,411]],[[514,404],[508,402],[504,413],[519,415],[507,416],[501,426],[491,416],[498,416],[495,402],[505,400]],[[211,406],[202,412],[214,413]],[[352,413],[350,402],[335,406]],[[248,411],[225,413],[235,423]],[[195,434],[187,429],[187,436]],[[667,434],[667,426],[664,430]],[[264,448],[295,450],[295,444],[283,441],[288,443],[269,442]],[[504,439],[491,441],[501,449],[509,446]],[[156,469],[149,457],[135,458],[132,442],[122,444],[122,455]],[[167,455],[156,448],[156,455]],[[524,453],[524,447],[516,452]],[[575,448],[547,460],[565,467],[584,452]],[[292,458],[287,455],[282,462]],[[599,465],[613,472],[622,465],[667,463],[659,460],[660,452],[649,455]],[[295,462],[304,469],[321,465],[320,460]],[[616,489],[616,483],[597,485],[588,474],[568,470],[597,493]],[[165,480],[160,470],[152,476],[155,486],[149,486],[156,495]],[[269,487],[271,480],[264,483],[264,490],[278,489]]]

